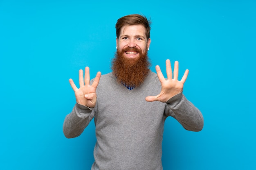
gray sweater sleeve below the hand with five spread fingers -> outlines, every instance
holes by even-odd
[[[189,131],[201,131],[204,119],[201,111],[180,93],[166,102],[166,116],[172,116]]]

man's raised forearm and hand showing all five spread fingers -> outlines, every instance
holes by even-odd
[[[181,81],[178,81],[179,63],[177,61],[175,61],[174,71],[172,72],[171,62],[166,60],[167,79],[164,78],[158,65],[156,71],[162,89],[157,96],[147,96],[146,101],[166,102],[165,114],[167,116],[173,116],[187,130],[202,130],[204,121],[201,112],[182,94],[189,70],[185,71]]]

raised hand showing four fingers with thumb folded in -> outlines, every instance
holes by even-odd
[[[99,84],[99,79],[101,78],[101,72],[98,72],[94,82],[90,85],[90,69],[85,67],[85,78],[83,78],[83,70],[79,70],[79,85],[77,88],[74,81],[70,78],[69,82],[72,89],[75,92],[76,102],[80,105],[84,105],[90,108],[95,107],[97,95],[96,88]]]

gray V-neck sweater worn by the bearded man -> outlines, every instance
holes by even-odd
[[[88,108],[76,103],[65,118],[67,138],[79,136],[94,118],[97,142],[92,170],[162,170],[164,121],[172,116],[189,131],[200,131],[200,111],[182,93],[166,103],[147,102],[146,96],[161,91],[157,74],[132,90],[117,83],[112,73],[101,76],[97,104]]]

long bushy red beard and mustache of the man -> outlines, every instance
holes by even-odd
[[[125,51],[137,51],[140,56],[137,58],[127,58]],[[138,87],[146,78],[149,72],[150,61],[147,51],[141,54],[137,48],[126,48],[122,51],[117,50],[115,58],[112,60],[112,71],[117,80],[127,86]]]

